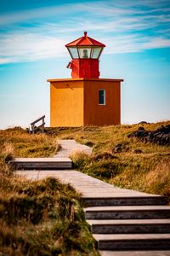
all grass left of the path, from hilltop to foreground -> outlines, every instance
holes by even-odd
[[[0,131],[0,146],[0,254],[99,255],[80,196],[69,184],[53,177],[26,180],[7,164],[16,156],[53,155],[56,138],[14,128]]]

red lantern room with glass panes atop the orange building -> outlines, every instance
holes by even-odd
[[[68,68],[71,68],[72,79],[99,79],[99,56],[105,44],[89,38],[87,32],[84,32],[82,38],[66,44],[65,47],[72,59],[67,65]]]

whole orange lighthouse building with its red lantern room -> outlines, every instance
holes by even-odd
[[[121,82],[99,79],[99,56],[105,44],[82,38],[66,44],[71,55],[71,79],[50,82],[50,125],[87,126],[121,123]]]

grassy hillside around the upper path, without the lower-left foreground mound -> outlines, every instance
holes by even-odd
[[[150,139],[148,135],[149,132],[157,134],[157,129],[167,125],[170,125],[170,121],[104,127],[46,128],[45,134],[37,135],[29,135],[18,127],[0,131],[0,145],[3,146],[3,154],[9,151],[9,154],[18,157],[45,157],[58,150],[59,138],[74,138],[93,147],[91,157],[77,153],[72,155],[75,167],[81,172],[122,188],[169,195],[170,145],[160,145],[154,142],[156,136],[151,134]],[[169,136],[168,133],[168,139]],[[159,137],[162,135],[157,136],[157,139]]]

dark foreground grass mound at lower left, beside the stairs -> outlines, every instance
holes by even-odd
[[[99,255],[70,185],[1,173],[0,188],[2,255]]]

